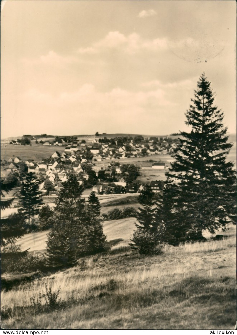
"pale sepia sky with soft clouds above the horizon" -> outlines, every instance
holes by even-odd
[[[235,1],[1,3],[1,138],[186,131],[203,72],[236,133]]]

